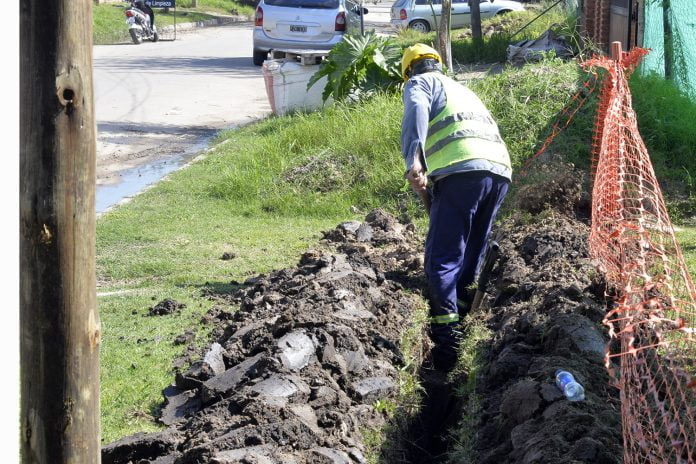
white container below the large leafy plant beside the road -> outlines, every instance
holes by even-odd
[[[326,87],[326,76],[307,91],[307,83],[319,65],[302,65],[287,58],[263,62],[266,94],[274,114],[283,115],[295,110],[312,111],[321,108],[321,94]],[[329,98],[326,105],[333,103]]]

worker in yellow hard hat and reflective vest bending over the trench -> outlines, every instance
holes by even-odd
[[[471,303],[468,288],[512,168],[488,109],[474,92],[443,74],[436,50],[408,47],[401,71],[406,179],[415,191],[430,192],[432,201],[425,242],[432,362],[435,369],[449,371],[457,360],[460,317]]]

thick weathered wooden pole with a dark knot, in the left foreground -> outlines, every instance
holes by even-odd
[[[92,0],[20,2],[23,463],[100,458]]]

